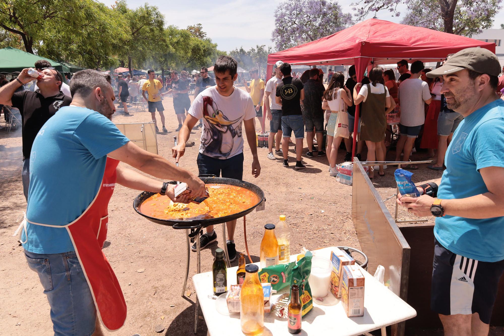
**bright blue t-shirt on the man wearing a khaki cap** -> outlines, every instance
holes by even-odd
[[[460,199],[488,192],[479,170],[504,167],[502,99],[464,118],[448,147],[445,164],[447,169],[437,192],[438,198]],[[504,259],[504,217],[438,217],[434,236],[445,248],[466,258],[487,262]]]

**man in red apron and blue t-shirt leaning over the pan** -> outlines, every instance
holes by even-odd
[[[21,240],[47,295],[55,335],[101,335],[98,321],[111,331],[124,324],[126,304],[102,252],[115,184],[187,202],[187,196],[175,199],[173,186],[119,161],[160,179],[186,182],[193,196],[205,194],[197,176],[140,149],[112,124],[109,81],[94,70],[76,73],[72,104],[42,127],[32,147]]]

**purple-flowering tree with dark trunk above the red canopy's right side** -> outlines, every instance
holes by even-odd
[[[408,12],[402,23],[426,27],[451,34],[471,36],[490,28],[493,17],[500,10],[502,0],[359,0],[355,6],[357,20],[369,13],[388,10],[394,16],[400,3],[407,5]]]

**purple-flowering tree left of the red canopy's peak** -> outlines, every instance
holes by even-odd
[[[277,49],[282,50],[334,34],[347,28],[351,19],[351,14],[344,14],[336,2],[286,0],[275,10],[275,29],[271,40]]]

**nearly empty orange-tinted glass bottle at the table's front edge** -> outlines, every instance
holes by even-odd
[[[264,328],[264,295],[258,271],[258,265],[245,266],[240,292],[240,325],[245,335],[260,334]]]

